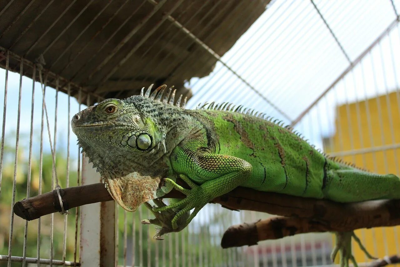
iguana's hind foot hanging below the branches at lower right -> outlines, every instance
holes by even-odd
[[[372,257],[370,253],[365,249],[365,247],[361,244],[360,239],[354,234],[353,231],[350,232],[335,232],[336,235],[336,245],[330,255],[332,261],[334,261],[337,253],[340,253],[340,267],[348,267],[349,260],[352,261],[354,267],[358,267],[356,259],[352,255],[351,251],[351,239],[354,238],[354,241],[360,246],[360,249],[364,251],[370,259],[377,259]]]

